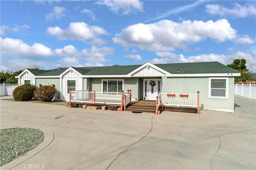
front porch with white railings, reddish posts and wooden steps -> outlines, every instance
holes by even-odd
[[[156,100],[132,101],[132,91],[126,93],[71,91],[69,107],[97,106],[118,111],[136,111],[160,114],[161,111],[183,111],[199,113],[199,92],[197,94],[175,94],[158,92]]]

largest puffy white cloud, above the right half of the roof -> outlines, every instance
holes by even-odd
[[[138,23],[122,29],[112,38],[113,42],[123,47],[139,47],[148,51],[174,51],[186,49],[206,38],[216,42],[227,40],[237,43],[252,43],[250,37],[237,34],[226,19],[217,21],[182,21],[160,20],[155,23]],[[239,39],[237,39],[239,38]],[[237,40],[236,40],[237,39]]]

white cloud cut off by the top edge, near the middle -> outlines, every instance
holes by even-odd
[[[143,12],[143,2],[139,0],[104,0],[96,2],[98,5],[106,5],[111,11],[118,14],[120,11],[124,15],[132,12]]]

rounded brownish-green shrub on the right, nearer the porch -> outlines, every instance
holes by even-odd
[[[52,101],[56,93],[56,88],[52,86],[41,86],[34,91],[35,97],[43,102]]]

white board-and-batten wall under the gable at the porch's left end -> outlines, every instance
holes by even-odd
[[[60,96],[60,100],[64,100],[66,102],[69,101],[69,92],[67,90],[68,80],[75,80],[76,90],[83,90],[83,78],[81,78],[80,75],[75,71],[68,71],[62,76],[62,92]]]

